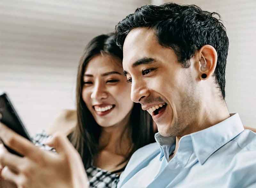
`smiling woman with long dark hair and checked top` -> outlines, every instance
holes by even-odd
[[[114,34],[102,34],[89,42],[78,66],[77,124],[68,138],[82,158],[90,187],[116,187],[131,155],[154,142],[151,117],[130,99],[122,59]],[[47,137],[39,134],[36,141]]]

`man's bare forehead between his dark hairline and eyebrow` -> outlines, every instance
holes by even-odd
[[[123,47],[124,70],[143,57],[152,56],[157,46],[160,46],[155,31],[149,28],[132,29],[126,36]],[[161,48],[161,46],[160,46]]]

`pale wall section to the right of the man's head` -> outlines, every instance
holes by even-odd
[[[168,2],[168,1],[165,1]],[[229,53],[226,67],[226,101],[230,113],[238,112],[246,126],[256,128],[256,1],[173,0],[218,12],[227,29]]]

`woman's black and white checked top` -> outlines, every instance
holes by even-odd
[[[33,142],[36,146],[44,150],[55,151],[52,147],[44,144],[45,141],[50,137],[52,136],[48,135],[45,131],[43,131],[39,134],[36,134],[36,136],[33,138]],[[109,172],[107,170],[94,167],[92,165],[91,167],[86,169],[90,188],[116,188],[120,176],[118,173],[124,171],[124,168]]]

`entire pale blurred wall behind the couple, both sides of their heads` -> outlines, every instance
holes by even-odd
[[[112,32],[137,7],[165,0],[1,0],[0,91],[9,94],[28,131],[47,130],[75,109],[76,71],[92,37]],[[226,101],[256,128],[255,0],[175,0],[220,13],[230,40]],[[60,125],[61,126],[61,125]]]

